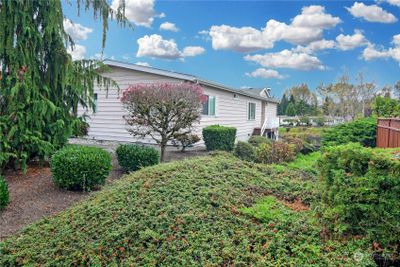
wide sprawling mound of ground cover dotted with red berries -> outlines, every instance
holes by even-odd
[[[309,204],[314,184],[221,155],[148,167],[1,243],[0,266],[357,265],[362,239],[325,242],[309,221],[252,215],[265,196]]]

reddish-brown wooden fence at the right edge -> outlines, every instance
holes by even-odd
[[[377,147],[400,147],[400,118],[378,119]]]

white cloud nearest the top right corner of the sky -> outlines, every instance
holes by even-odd
[[[377,5],[367,6],[364,3],[355,2],[352,7],[346,7],[346,9],[354,17],[363,18],[369,22],[394,23],[397,21],[393,14]]]

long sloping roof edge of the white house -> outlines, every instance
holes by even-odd
[[[183,80],[183,81],[190,81],[190,82],[195,82],[195,83],[197,82],[202,85],[214,87],[214,88],[232,92],[235,94],[244,95],[244,96],[248,96],[248,97],[252,97],[252,98],[256,98],[256,99],[260,99],[260,100],[265,100],[265,101],[269,101],[269,102],[279,103],[279,100],[274,99],[272,97],[263,96],[260,93],[255,94],[254,92],[248,91],[247,89],[239,90],[239,89],[235,89],[235,88],[226,87],[225,85],[207,81],[207,80],[201,79],[199,77],[196,77],[194,75],[189,75],[189,74],[184,74],[184,73],[179,73],[179,72],[174,72],[174,71],[169,71],[169,70],[162,70],[162,69],[157,69],[157,68],[153,68],[153,67],[136,65],[136,64],[132,64],[132,63],[126,63],[126,62],[110,60],[110,59],[104,60],[103,63],[108,66],[136,70],[136,71],[161,75],[161,76],[165,76],[165,77],[175,78],[175,79],[179,79],[179,80]]]

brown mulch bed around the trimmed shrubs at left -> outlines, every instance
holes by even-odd
[[[166,161],[204,156],[204,150],[180,153],[170,149]],[[113,170],[107,183],[123,176],[118,162],[113,157]],[[52,180],[48,166],[31,164],[26,174],[21,171],[7,170],[5,179],[10,192],[10,203],[0,211],[0,241],[17,233],[27,224],[46,216],[52,216],[87,197],[90,193],[73,192],[58,188]]]

